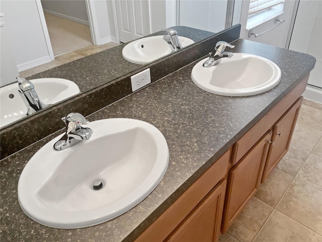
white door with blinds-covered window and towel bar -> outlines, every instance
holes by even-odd
[[[260,6],[263,2],[268,3],[266,6]],[[270,4],[277,5],[269,7]],[[292,0],[243,1],[240,16],[240,38],[270,44],[276,47],[287,47],[286,44],[288,41],[289,29],[292,24],[295,4],[296,1]],[[254,7],[254,9],[252,9],[252,7]],[[276,18],[278,21],[275,21]],[[269,29],[271,30],[266,32]],[[258,34],[259,36],[249,36],[250,30],[253,30],[253,33]],[[264,34],[261,34],[263,32]]]

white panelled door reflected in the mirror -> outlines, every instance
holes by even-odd
[[[149,1],[115,0],[120,42],[126,43],[150,34]]]

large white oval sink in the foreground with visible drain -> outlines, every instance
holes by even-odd
[[[27,163],[19,203],[38,223],[80,228],[115,218],[141,202],[164,176],[169,150],[162,133],[136,119],[89,123],[92,137],[62,151],[56,137]],[[103,188],[94,190],[94,180]]]

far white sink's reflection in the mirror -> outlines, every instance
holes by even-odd
[[[172,53],[172,46],[164,39],[164,35],[151,36],[128,43],[122,50],[123,58],[135,64],[147,64]],[[182,47],[193,44],[194,41],[179,36]]]

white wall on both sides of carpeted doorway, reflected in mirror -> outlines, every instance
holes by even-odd
[[[93,21],[96,24],[98,45],[113,40],[107,1],[91,1],[92,9],[97,15]],[[36,0],[1,0],[0,8],[6,16],[8,39],[18,71],[50,62]]]

